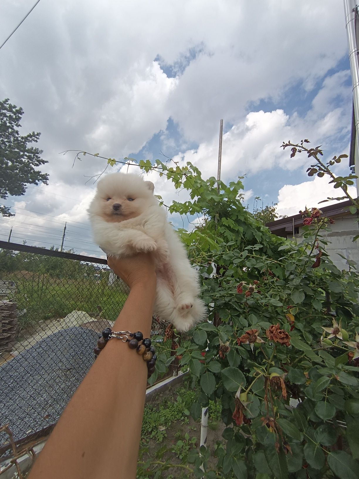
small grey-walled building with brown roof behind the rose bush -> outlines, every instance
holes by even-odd
[[[348,270],[348,260],[353,260],[359,265],[359,240],[353,242],[353,238],[359,234],[358,214],[352,215],[349,212],[351,201],[343,201],[335,205],[323,206],[320,208],[323,215],[334,219],[335,223],[328,225],[329,231],[323,231],[328,245],[325,250],[334,264],[340,270]],[[300,237],[303,233],[302,215],[294,215],[287,218],[277,219],[267,223],[266,226],[277,236],[291,239]]]

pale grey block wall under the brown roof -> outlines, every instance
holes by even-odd
[[[348,270],[349,266],[337,253],[342,254],[348,260],[355,261],[359,268],[359,239],[353,242],[353,238],[359,234],[359,224],[356,220],[356,215],[336,217],[335,223],[329,225],[331,231],[323,231],[323,236],[328,241],[325,250],[340,270]],[[302,231],[303,229],[299,228],[299,235]]]

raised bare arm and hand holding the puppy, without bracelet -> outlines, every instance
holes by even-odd
[[[139,253],[109,258],[108,264],[130,287],[113,331],[142,331],[149,337],[156,294],[153,257]],[[146,377],[142,356],[121,340],[110,340],[68,403],[29,479],[135,478]]]

